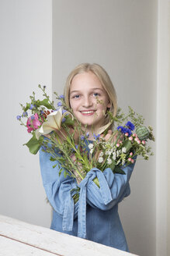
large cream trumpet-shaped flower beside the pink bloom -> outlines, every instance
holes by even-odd
[[[36,130],[36,139],[39,140],[41,135],[46,135],[52,132],[53,130],[61,130],[61,122],[65,115],[71,115],[72,119],[74,119],[71,112],[62,113],[62,109],[59,108],[57,111],[50,113],[47,116],[47,121],[40,126],[39,129]]]

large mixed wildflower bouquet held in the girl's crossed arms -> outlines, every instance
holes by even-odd
[[[42,148],[50,153],[54,168],[59,167],[64,176],[70,175],[80,183],[93,167],[102,172],[109,167],[123,175],[120,167],[133,163],[135,156],[148,160],[153,155],[147,145],[147,140],[154,140],[152,128],[144,126],[144,118],[132,108],[129,107],[127,116],[121,109],[116,117],[107,112],[109,123],[99,134],[93,133],[94,140],[89,140],[86,127],[82,127],[71,108],[65,105],[64,95],[54,92],[56,108],[46,93],[46,87],[39,87],[43,100],[37,100],[33,92],[30,102],[25,106],[21,104],[23,113],[17,119],[32,136],[26,143],[29,151],[36,154]],[[113,133],[109,140],[105,140],[110,126]],[[99,186],[97,178],[94,182]]]

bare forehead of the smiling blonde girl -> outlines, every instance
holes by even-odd
[[[79,73],[71,81],[70,91],[78,88],[99,88],[103,89],[102,84],[97,76],[92,72]]]

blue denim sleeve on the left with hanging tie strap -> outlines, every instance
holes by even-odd
[[[74,218],[78,215],[78,203],[74,204],[72,195],[77,188],[76,180],[71,176],[64,177],[60,172],[60,164],[54,168],[56,162],[50,161],[50,153],[40,148],[40,170],[47,198],[58,215],[63,217],[63,229],[70,231]],[[66,171],[67,172],[67,171]]]

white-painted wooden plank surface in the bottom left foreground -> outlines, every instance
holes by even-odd
[[[0,256],[130,256],[127,252],[0,215]]]

